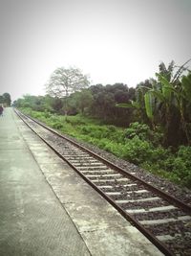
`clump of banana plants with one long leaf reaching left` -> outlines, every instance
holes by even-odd
[[[135,102],[117,106],[134,107],[139,112],[144,111],[153,128],[156,121],[165,124],[166,135],[170,134],[172,120],[175,113],[179,112],[181,129],[185,133],[188,144],[191,145],[191,130],[189,130],[189,126],[191,127],[191,71],[187,76],[182,76],[182,72],[188,70],[184,66],[190,60],[181,65],[174,76],[173,61],[168,68],[161,64],[159,73],[156,73],[158,80],[153,80],[151,88],[140,85]]]

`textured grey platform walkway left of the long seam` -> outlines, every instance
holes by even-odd
[[[0,119],[0,255],[91,255],[56,198],[10,108]],[[39,142],[37,142],[39,144]]]

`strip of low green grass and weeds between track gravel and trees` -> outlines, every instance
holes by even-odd
[[[117,128],[81,115],[68,116],[66,119],[31,108],[20,110],[79,141],[88,142],[150,173],[191,188],[191,147],[180,146],[176,153],[164,149],[160,145],[162,134],[154,133],[146,125],[134,123],[130,128]]]

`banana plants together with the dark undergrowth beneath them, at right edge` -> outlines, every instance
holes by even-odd
[[[138,84],[132,102],[141,113],[140,121],[153,130],[162,128],[165,146],[191,145],[191,72],[183,75],[185,69],[180,66],[174,75],[173,61],[167,68],[160,63],[157,79]]]

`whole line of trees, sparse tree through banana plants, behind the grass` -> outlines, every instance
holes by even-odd
[[[188,60],[190,61],[190,60]],[[159,64],[155,78],[138,83],[90,85],[78,69],[58,68],[46,84],[47,95],[25,95],[14,105],[60,115],[82,114],[106,124],[128,127],[133,122],[163,133],[162,145],[191,144],[191,71],[171,61]]]

